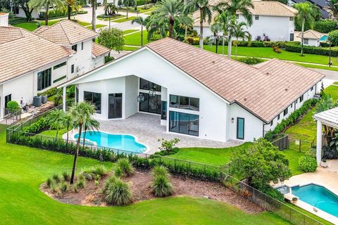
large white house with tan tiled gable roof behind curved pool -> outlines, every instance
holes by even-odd
[[[277,59],[246,65],[165,38],[58,87],[76,84],[76,101],[94,103],[99,120],[153,113],[167,132],[253,141],[313,98],[323,77]]]

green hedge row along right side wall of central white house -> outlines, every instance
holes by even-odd
[[[273,135],[282,133],[285,128],[294,124],[301,115],[304,115],[306,112],[308,112],[308,110],[315,106],[316,103],[318,103],[318,99],[316,98],[312,98],[304,102],[303,105],[301,105],[301,108],[292,112],[289,117],[287,117],[287,119],[283,119],[279,124],[277,124],[275,129],[268,131],[264,138],[271,141],[273,139]]]

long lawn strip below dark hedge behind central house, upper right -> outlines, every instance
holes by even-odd
[[[199,46],[196,46],[199,47]],[[220,49],[222,47],[220,46]],[[204,49],[208,51],[215,52],[215,46],[204,45]],[[219,49],[219,53],[221,50]],[[235,48],[232,47],[232,54],[234,55]],[[227,46],[225,46],[225,52],[227,53]],[[293,60],[299,62],[306,63],[318,63],[327,65],[328,56],[319,56],[319,55],[311,55],[304,54],[304,56],[300,56],[299,53],[289,52],[282,50],[282,53],[275,53],[272,48],[256,48],[256,47],[241,47],[237,48],[238,56],[251,56],[251,57],[261,57],[261,58],[279,58],[282,60]],[[334,65],[338,65],[338,58],[332,57],[332,62]]]

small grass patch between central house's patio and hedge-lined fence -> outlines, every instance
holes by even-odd
[[[230,162],[230,156],[237,148],[247,148],[251,143],[246,142],[240,146],[230,148],[181,148],[175,155],[170,158],[180,160],[189,160],[201,162],[209,165],[225,165]]]

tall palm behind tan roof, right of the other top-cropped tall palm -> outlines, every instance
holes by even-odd
[[[234,20],[236,20],[236,15],[240,14],[244,17],[244,20],[247,25],[252,25],[252,15],[250,12],[250,8],[253,8],[253,4],[251,0],[232,0],[232,1],[223,1],[217,4],[214,7],[215,11],[218,13],[227,12],[229,16],[232,18],[230,23],[232,25],[229,27],[230,30],[228,32],[228,44],[227,44],[227,57],[231,58],[231,47],[232,47],[232,35],[234,33]]]

